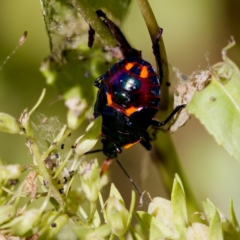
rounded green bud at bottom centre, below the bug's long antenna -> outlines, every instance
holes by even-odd
[[[127,232],[129,212],[124,203],[115,196],[107,201],[106,218],[111,231],[116,236],[121,237]]]

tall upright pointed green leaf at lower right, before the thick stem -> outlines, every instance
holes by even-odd
[[[180,226],[186,226],[188,222],[186,197],[178,175],[176,175],[174,179],[171,202],[174,223]]]

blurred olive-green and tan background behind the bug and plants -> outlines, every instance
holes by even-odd
[[[221,50],[234,36],[237,45],[229,56],[240,64],[240,1],[239,0],[150,0],[163,37],[169,62],[186,75],[204,70],[221,61]],[[65,123],[66,108],[57,101],[57,91],[46,86],[39,72],[41,61],[49,55],[49,42],[38,1],[0,2],[0,65],[14,51],[22,33],[29,36],[0,71],[0,112],[19,118],[21,112],[31,108],[42,91],[47,96],[39,111],[48,117],[58,116]],[[143,58],[154,63],[150,38],[137,4],[133,1],[122,30],[130,43],[143,52]],[[214,116],[212,116],[214,118]],[[78,135],[83,133],[78,131]],[[172,135],[181,164],[197,201],[209,198],[226,216],[228,201],[232,197],[240,218],[240,165],[218,146],[203,126],[192,119]],[[0,158],[8,163],[31,162],[21,136],[0,133]],[[104,160],[102,154],[97,155]],[[142,190],[152,197],[166,196],[161,179],[149,153],[137,144],[124,151],[119,159]],[[132,189],[117,164],[109,173],[125,198]],[[105,190],[107,191],[107,190]]]

